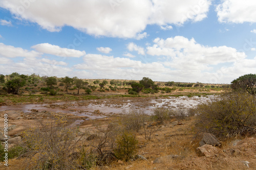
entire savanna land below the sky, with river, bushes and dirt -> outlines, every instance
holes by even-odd
[[[256,75],[231,84],[0,78],[0,169],[6,141],[8,169],[256,168]]]

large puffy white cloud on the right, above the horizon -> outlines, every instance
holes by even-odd
[[[147,54],[152,56],[167,57],[164,65],[182,70],[209,70],[211,65],[226,62],[235,62],[246,57],[235,48],[227,46],[204,46],[198,44],[195,39],[187,39],[182,36],[156,38],[153,46],[147,47]]]

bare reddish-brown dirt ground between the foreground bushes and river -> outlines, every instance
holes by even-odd
[[[137,98],[138,100],[150,100],[149,98]],[[100,104],[104,100],[95,100],[95,104]],[[119,99],[109,99],[108,104],[122,104]],[[51,107],[51,106],[50,106]],[[65,110],[65,105],[57,106]],[[62,108],[61,108],[62,107]],[[38,118],[47,119],[48,114],[55,114],[67,117],[70,121],[81,119],[79,129],[93,130],[92,120],[86,117],[79,117],[63,112],[38,111],[30,113],[22,111],[2,111],[0,112],[0,127],[4,127],[4,114],[8,113],[9,127],[12,130],[8,135],[11,137],[19,136],[21,132],[29,127],[36,126]],[[94,114],[102,114],[95,112]],[[119,114],[106,115],[105,118],[95,119],[94,123],[101,125],[108,124],[110,121],[118,119]],[[139,133],[137,134],[138,150],[137,154],[144,156],[147,160],[130,160],[128,162],[116,161],[108,166],[99,166],[95,169],[256,169],[256,138],[253,136],[237,138],[240,141],[233,145],[235,139],[228,139],[222,142],[221,147],[214,147],[208,150],[209,155],[200,156],[197,152],[199,141],[202,136],[195,136],[193,127],[197,121],[196,117],[187,117],[181,122],[176,119],[164,122],[162,125],[150,124],[152,128],[151,140],[146,140]],[[169,158],[168,155],[178,155],[177,158]],[[160,161],[156,161],[160,158]],[[0,169],[19,169],[19,165],[24,163],[23,158],[15,158],[8,161],[8,168],[0,163]]]

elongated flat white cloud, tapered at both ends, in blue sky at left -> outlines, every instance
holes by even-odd
[[[81,57],[86,54],[85,51],[79,51],[69,48],[61,48],[58,45],[52,45],[49,43],[41,43],[32,46],[36,51],[46,54],[51,54],[60,57]]]

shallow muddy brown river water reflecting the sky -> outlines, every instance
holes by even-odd
[[[25,104],[14,106],[0,106],[0,111],[20,110],[31,112],[32,109],[38,111],[52,111],[70,113],[77,116],[88,116],[89,118],[103,118],[106,115],[114,113],[125,113],[131,109],[143,109],[145,113],[151,114],[156,107],[164,108],[190,108],[205,101],[215,98],[210,96],[170,96],[167,98],[116,98],[103,100],[75,101],[75,102],[57,102],[51,104]],[[96,110],[96,111],[95,111]],[[99,111],[97,111],[99,110]],[[97,114],[98,112],[102,114]]]

